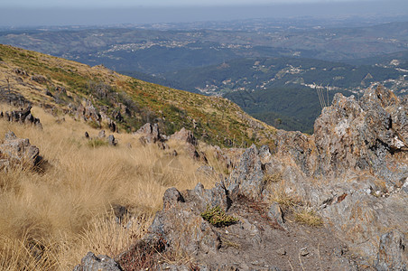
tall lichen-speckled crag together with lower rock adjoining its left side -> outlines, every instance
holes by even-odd
[[[337,94],[316,119],[314,135],[278,131],[276,153],[307,176],[373,172],[401,187],[408,172],[406,101],[384,88],[367,90],[359,101]]]

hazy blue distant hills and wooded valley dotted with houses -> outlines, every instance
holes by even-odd
[[[326,103],[335,92],[358,96],[377,84],[396,94],[407,90],[408,22],[342,28],[305,22],[7,30],[0,43],[222,95],[268,124],[307,133],[322,107],[316,87],[325,88]]]

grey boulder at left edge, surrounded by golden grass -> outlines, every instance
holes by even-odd
[[[0,169],[11,167],[32,169],[40,162],[40,150],[30,144],[28,139],[17,138],[13,132],[5,134],[0,145]]]

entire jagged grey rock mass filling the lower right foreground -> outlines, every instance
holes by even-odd
[[[406,270],[406,101],[382,88],[359,101],[337,95],[316,120],[315,135],[278,131],[272,151],[246,149],[214,188],[167,190],[149,233],[116,263],[134,270],[145,267],[146,253],[182,250],[194,257],[192,266],[149,267]],[[288,222],[290,212],[271,201],[280,191],[315,210],[324,228]],[[238,221],[219,228],[204,220],[201,214],[216,206]]]

